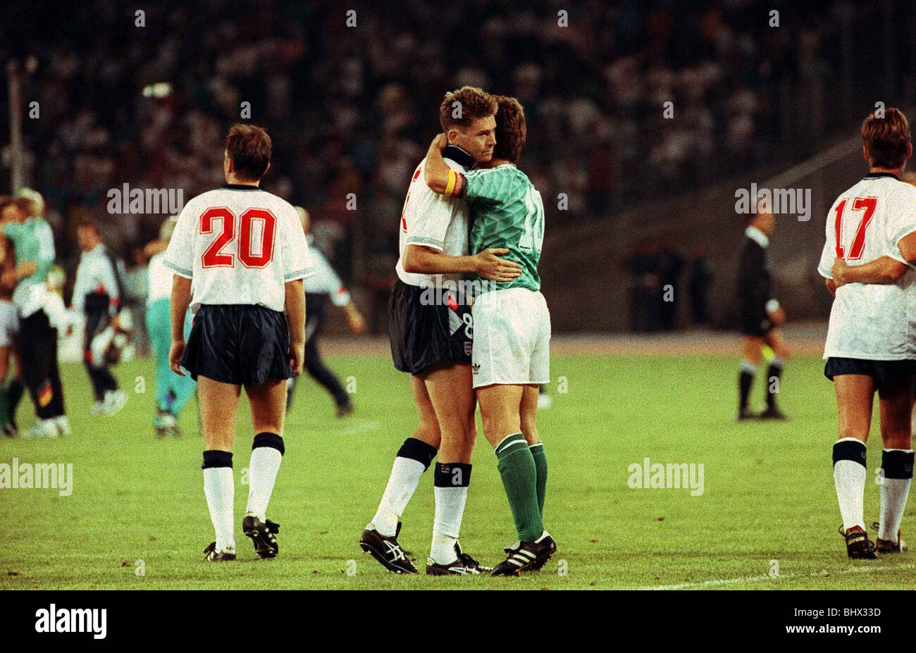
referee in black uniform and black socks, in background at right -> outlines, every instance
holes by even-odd
[[[773,358],[764,379],[766,408],[758,419],[786,419],[776,405],[780,391],[782,369],[789,359],[789,348],[782,337],[780,325],[786,320],[780,302],[773,298],[770,283],[770,265],[767,256],[769,236],[773,233],[775,218],[772,212],[758,211],[747,221],[744,242],[738,256],[737,299],[741,317],[741,371],[738,375],[737,419],[755,417],[747,401],[757,368],[762,362],[762,349],[769,345]]]

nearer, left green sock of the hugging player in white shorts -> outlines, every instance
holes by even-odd
[[[540,538],[544,523],[538,508],[537,472],[525,436],[513,433],[501,441],[496,447],[496,461],[519,541],[531,542]]]

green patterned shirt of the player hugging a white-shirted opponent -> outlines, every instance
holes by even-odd
[[[544,242],[544,204],[528,175],[513,163],[471,170],[464,173],[463,196],[470,207],[471,254],[506,247],[509,252],[504,257],[521,266],[521,275],[515,280],[490,281],[482,288],[540,290],[538,262]]]

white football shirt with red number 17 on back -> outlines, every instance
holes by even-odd
[[[916,232],[916,188],[887,173],[869,174],[840,195],[827,214],[817,271],[831,278],[834,258],[860,266],[881,256],[906,264],[898,243]],[[836,289],[823,357],[875,361],[916,358],[916,272],[894,283]]]

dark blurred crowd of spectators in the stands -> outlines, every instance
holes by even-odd
[[[0,55],[22,62],[23,101],[38,102],[26,180],[69,271],[87,214],[142,266],[164,216],[109,214],[107,191],[182,189],[188,201],[221,185],[224,134],[245,117],[273,136],[267,190],[307,207],[344,276],[382,298],[446,90],[524,104],[520,167],[550,232],[766,162],[797,24],[821,38],[834,4],[784,10],[777,29],[770,5],[790,5],[750,0],[49,2],[3,9]]]

